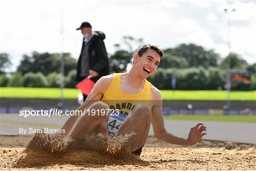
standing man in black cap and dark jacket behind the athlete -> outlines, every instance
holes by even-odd
[[[75,81],[82,81],[87,76],[96,82],[102,76],[109,75],[109,61],[103,40],[105,34],[101,31],[91,30],[89,22],[83,22],[79,28],[83,35],[82,50],[77,63],[77,72]],[[87,95],[83,94],[83,101]]]

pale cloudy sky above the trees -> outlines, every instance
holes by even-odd
[[[82,34],[76,28],[83,21],[105,33],[109,54],[129,35],[162,49],[194,43],[223,58],[230,35],[231,51],[256,63],[256,0],[0,0],[0,7],[0,53],[10,56],[9,72],[33,51],[78,59]]]

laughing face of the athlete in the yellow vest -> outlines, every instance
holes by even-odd
[[[133,54],[133,60],[135,69],[146,79],[156,71],[160,64],[160,55],[149,48],[141,56],[137,53]]]

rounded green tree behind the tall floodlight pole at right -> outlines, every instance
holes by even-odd
[[[221,63],[219,64],[219,68],[227,70],[228,69],[228,61],[230,59],[230,69],[246,71],[248,66],[247,62],[243,60],[238,54],[231,53],[227,57],[225,57]]]

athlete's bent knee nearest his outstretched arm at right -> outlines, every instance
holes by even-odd
[[[145,103],[139,103],[133,109],[133,113],[137,117],[151,118],[152,111]]]

